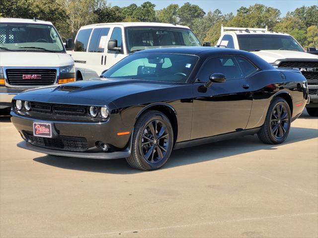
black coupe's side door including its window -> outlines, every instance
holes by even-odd
[[[226,81],[202,89],[209,76],[223,73]],[[234,56],[205,61],[193,84],[193,120],[191,139],[209,137],[245,129],[252,106],[252,92]]]

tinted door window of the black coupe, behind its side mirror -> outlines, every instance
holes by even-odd
[[[199,80],[207,82],[213,73],[223,73],[227,80],[234,80],[243,76],[235,57],[217,57],[206,60],[199,73]]]

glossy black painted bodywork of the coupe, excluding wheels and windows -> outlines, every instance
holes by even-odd
[[[95,142],[99,140],[111,144],[112,151],[127,151],[131,133],[118,136],[117,132],[132,132],[136,119],[142,112],[148,109],[159,110],[169,113],[175,129],[175,148],[178,148],[183,147],[181,144],[185,142],[189,142],[187,145],[195,145],[195,140],[203,143],[210,141],[202,138],[216,136],[215,138],[224,139],[228,137],[220,135],[257,132],[264,123],[271,100],[277,95],[287,100],[293,119],[301,114],[306,105],[308,90],[303,87],[306,79],[301,73],[277,70],[248,52],[191,47],[153,49],[135,54],[143,52],[190,54],[198,56],[199,60],[187,83],[102,78],[103,80],[64,84],[81,87],[71,92],[60,91],[59,86],[46,87],[29,90],[13,99],[13,102],[19,99],[51,104],[107,106],[111,111],[108,120],[83,120],[61,115],[41,116],[32,111],[18,112],[12,108],[13,124],[23,137],[22,130],[32,131],[33,121],[51,122],[60,135],[87,138],[90,148],[88,151],[95,151]],[[200,92],[199,87],[204,85],[197,78],[200,68],[205,60],[218,56],[242,56],[253,62],[258,70],[246,78],[213,83],[206,92]],[[105,154],[105,158],[116,157],[115,154],[113,157],[109,156],[111,153]]]

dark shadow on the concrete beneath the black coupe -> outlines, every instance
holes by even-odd
[[[239,139],[225,140],[201,146],[189,147],[172,151],[172,154],[162,169],[169,169],[205,161],[222,159],[257,150],[276,150],[279,146],[300,142],[318,137],[318,129],[292,127],[287,140],[281,145],[268,145],[259,141],[256,135]],[[278,148],[277,148],[278,147]],[[266,156],[266,151],[263,153]],[[87,171],[106,174],[137,174],[143,171],[132,169],[125,159],[97,160],[58,156],[43,156],[33,159],[36,162],[68,170]],[[161,170],[162,170],[161,169]]]

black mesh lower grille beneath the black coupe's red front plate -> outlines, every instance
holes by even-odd
[[[87,150],[87,140],[84,137],[61,135],[57,138],[38,137],[34,136],[31,131],[24,131],[24,135],[28,139],[29,143],[35,146],[65,151],[83,152]]]

